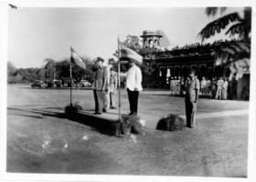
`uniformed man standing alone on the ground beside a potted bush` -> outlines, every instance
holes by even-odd
[[[193,69],[189,71],[189,80],[186,86],[186,117],[187,127],[193,128],[196,126],[196,111],[197,111],[197,100],[199,96],[200,83],[196,79],[195,74],[197,72]]]

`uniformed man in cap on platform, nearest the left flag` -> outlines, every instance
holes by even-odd
[[[95,73],[94,82],[92,85],[93,96],[95,100],[95,115],[101,115],[103,109],[103,95],[106,91],[106,83],[108,79],[107,69],[103,66],[104,59],[97,57],[95,66],[92,71]]]

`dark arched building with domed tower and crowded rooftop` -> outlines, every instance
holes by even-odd
[[[163,37],[159,32],[144,31],[144,49],[160,47],[160,38]],[[151,45],[152,41],[157,45]],[[144,74],[143,86],[169,88],[169,79],[174,76],[188,76],[190,68],[197,71],[199,80],[204,76],[211,79],[219,76],[229,76],[229,69],[223,66],[216,66],[215,59],[211,56],[212,49],[219,44],[229,44],[230,41],[216,41],[213,44],[192,44],[183,47],[175,47],[172,50],[155,49],[155,55],[148,58],[144,56],[144,64],[155,61],[158,66],[151,76]],[[242,99],[244,86],[249,85],[250,75],[243,76],[237,83],[237,98]]]

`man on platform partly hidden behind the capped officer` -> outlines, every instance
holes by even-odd
[[[111,68],[111,76],[110,76],[110,85],[109,85],[109,93],[110,93],[110,108],[115,109],[115,93],[117,88],[117,76]]]

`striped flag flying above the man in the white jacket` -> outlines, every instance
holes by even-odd
[[[121,42],[119,42],[119,58],[124,61],[133,61],[139,65],[143,64],[143,56],[140,56],[138,53],[133,51],[132,49],[126,47]]]

